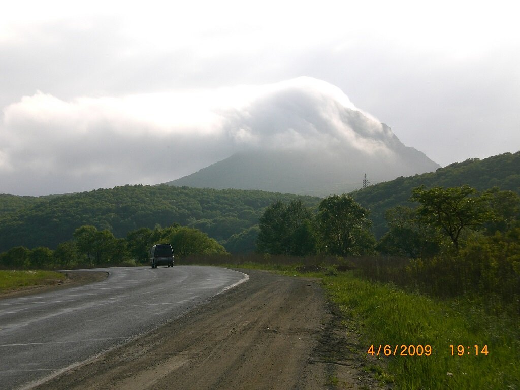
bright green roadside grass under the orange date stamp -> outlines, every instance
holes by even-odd
[[[520,331],[511,318],[484,314],[469,302],[438,301],[361,280],[350,273],[324,277],[323,285],[348,322],[361,331],[361,352],[374,345],[430,345],[431,356],[378,359],[398,389],[520,389]],[[451,356],[450,345],[470,346]],[[475,356],[474,345],[488,355]],[[456,348],[456,347],[455,347]],[[368,356],[368,355],[367,355]]]

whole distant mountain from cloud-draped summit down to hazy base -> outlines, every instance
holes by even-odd
[[[303,77],[223,113],[241,148],[229,158],[166,183],[327,196],[439,165],[406,147],[386,124],[326,82]]]

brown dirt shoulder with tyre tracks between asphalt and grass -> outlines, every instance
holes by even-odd
[[[366,389],[357,334],[319,280],[266,271],[37,389]]]

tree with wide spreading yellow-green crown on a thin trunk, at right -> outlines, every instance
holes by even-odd
[[[484,222],[492,217],[489,194],[477,194],[477,190],[469,186],[429,190],[420,186],[413,189],[410,200],[420,203],[419,220],[443,231],[456,252],[462,232],[483,229]]]

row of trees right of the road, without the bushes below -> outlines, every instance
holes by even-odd
[[[277,201],[259,218],[257,251],[305,256],[371,253],[410,258],[458,254],[469,243],[507,235],[520,227],[520,197],[469,186],[414,188],[414,206],[386,211],[387,232],[376,241],[369,211],[347,194],[323,199],[317,209],[300,200]]]

